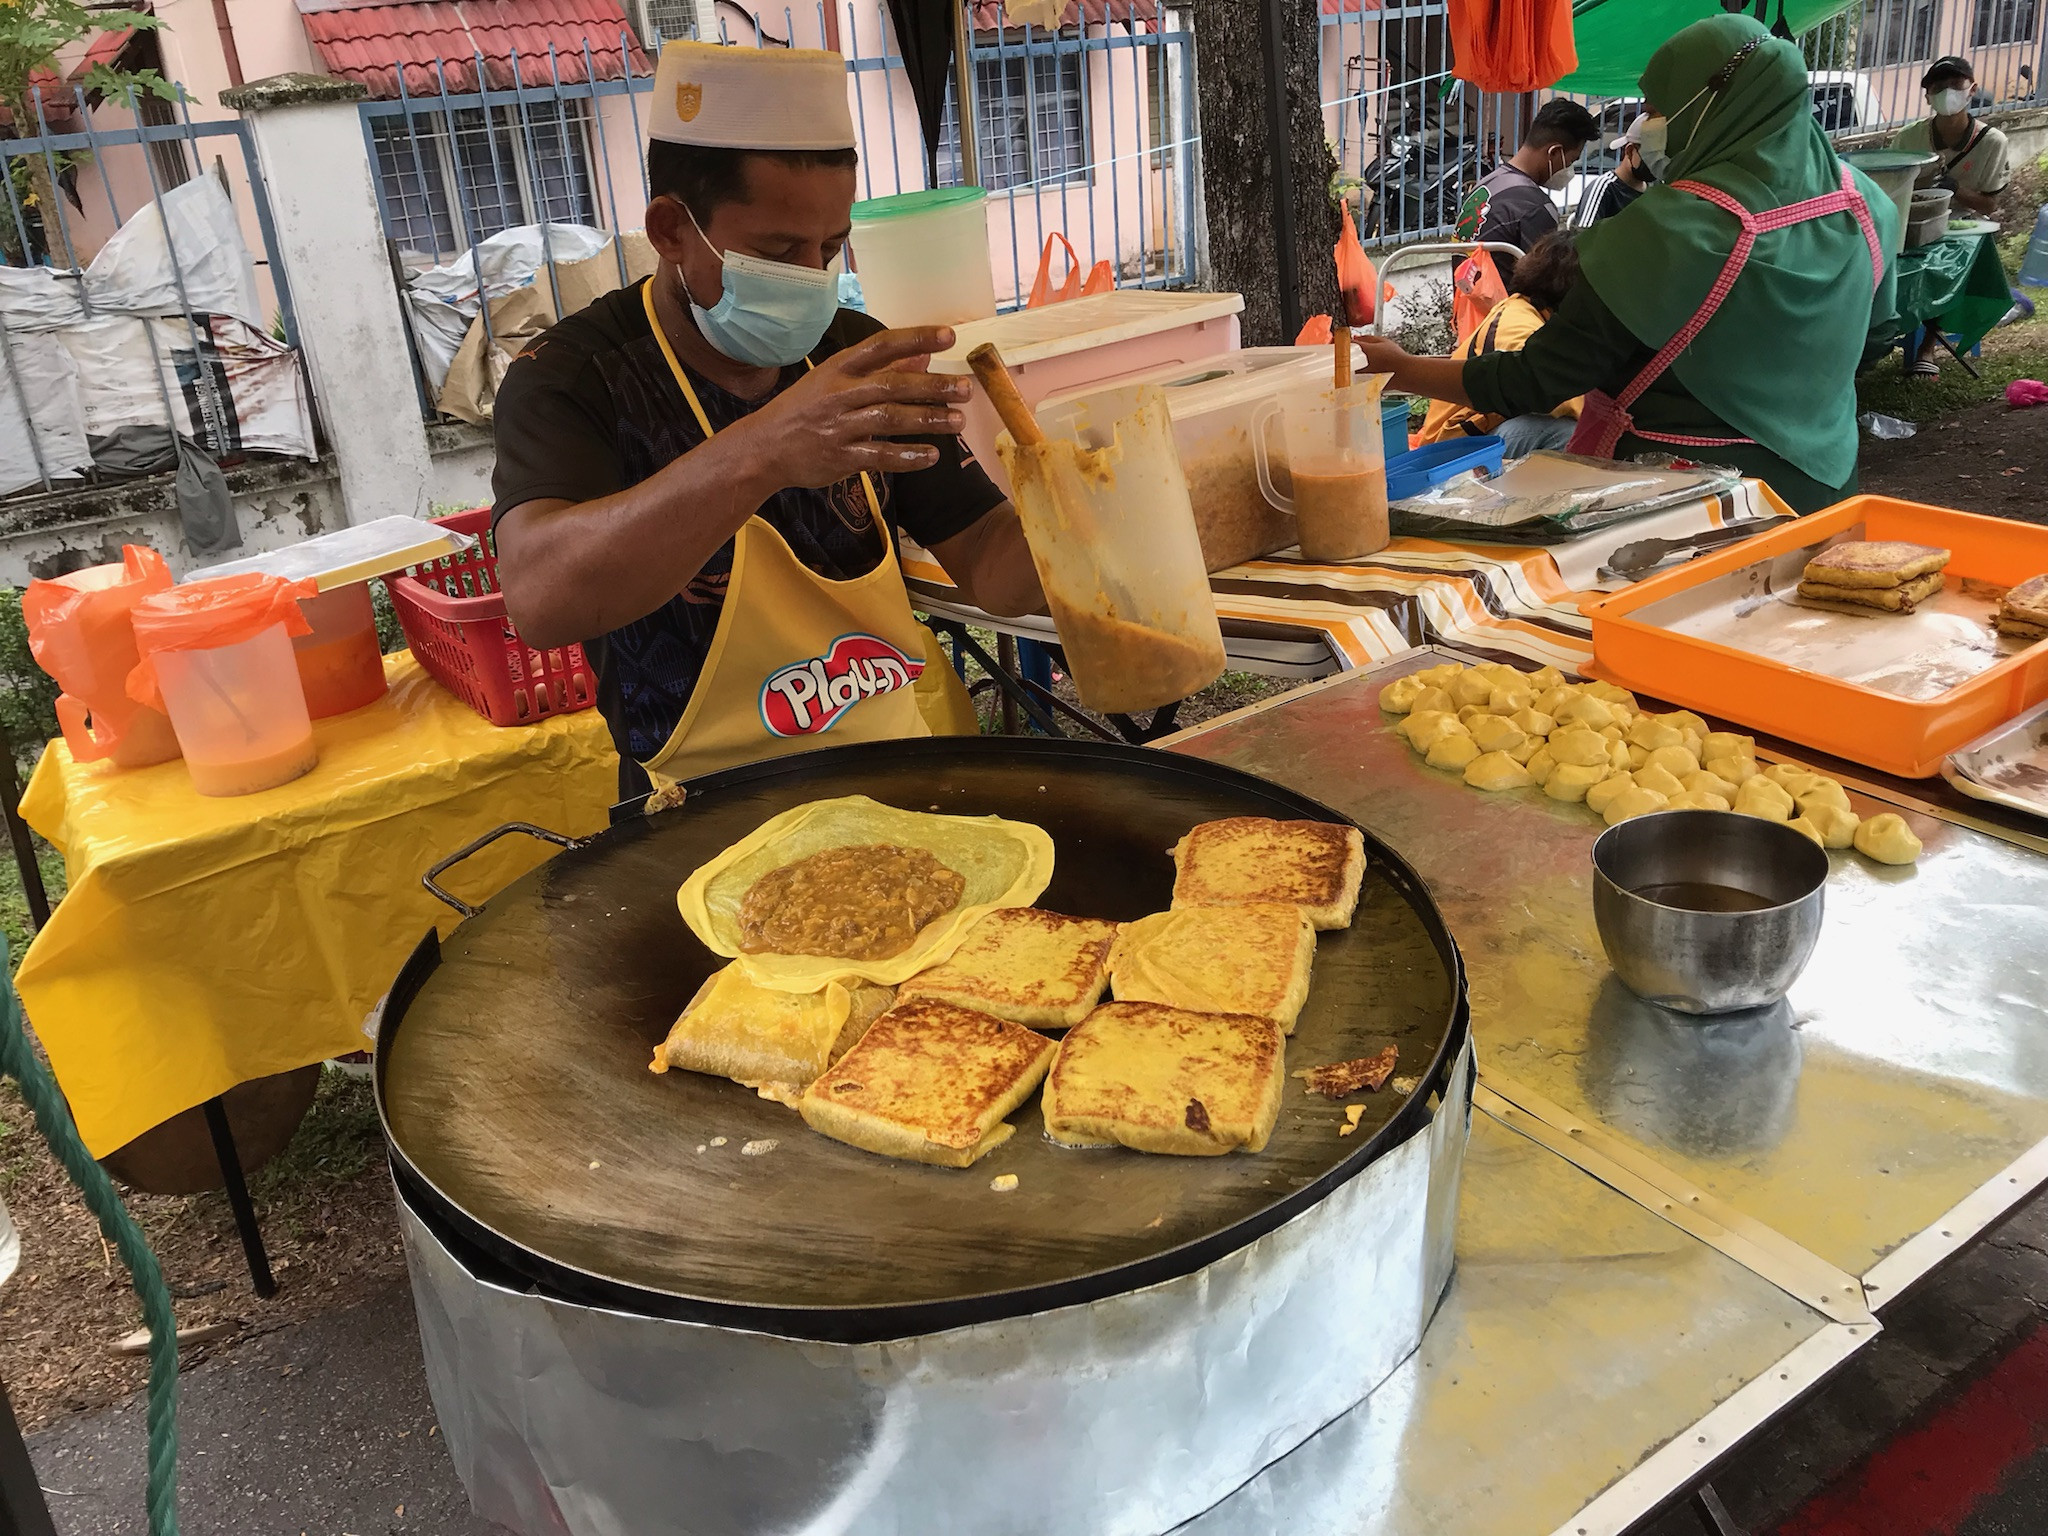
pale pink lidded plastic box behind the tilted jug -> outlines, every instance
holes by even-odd
[[[1237,293],[1116,289],[1040,309],[1016,309],[958,326],[952,350],[932,358],[932,373],[973,377],[967,354],[983,342],[993,342],[1024,403],[1036,410],[1047,399],[1081,395],[1130,383],[1157,369],[1178,369],[1235,352],[1237,313],[1243,307],[1245,301]],[[997,487],[1010,492],[1010,471],[995,455],[1001,422],[981,385],[975,385],[961,414],[967,418],[961,438],[969,453]]]

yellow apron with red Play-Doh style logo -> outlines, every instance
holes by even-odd
[[[641,291],[647,324],[696,424],[711,436],[690,377]],[[866,575],[819,575],[764,518],[733,539],[733,573],[690,705],[643,766],[655,788],[786,752],[905,735],[975,735],[967,688],[938,637],[909,610],[895,541],[874,481],[860,475],[883,541]]]

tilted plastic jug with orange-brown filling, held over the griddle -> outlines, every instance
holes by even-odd
[[[1122,416],[1073,401],[1047,440],[995,453],[1081,702],[1157,709],[1223,676],[1223,629],[1159,389]]]

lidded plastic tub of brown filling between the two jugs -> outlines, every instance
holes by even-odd
[[[1364,354],[1360,354],[1360,365]],[[1327,348],[1247,346],[1219,358],[1174,369],[1153,369],[1139,379],[1094,389],[1083,395],[1055,395],[1038,408],[1047,430],[1071,436],[1063,426],[1073,408],[1106,418],[1137,410],[1141,389],[1165,395],[1174,422],[1174,446],[1188,481],[1194,535],[1202,563],[1210,571],[1243,565],[1294,543],[1294,518],[1260,489],[1260,467],[1251,449],[1251,426],[1260,406],[1278,393],[1327,381]],[[1286,481],[1286,446],[1278,432],[1266,440],[1276,473]]]

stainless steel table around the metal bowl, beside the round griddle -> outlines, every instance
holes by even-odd
[[[1626,1530],[2048,1180],[2048,858],[1858,795],[1905,811],[1921,862],[1835,854],[1788,1006],[1683,1022],[1608,971],[1597,817],[1473,791],[1389,731],[1380,686],[1436,659],[1165,743],[1315,795],[1421,870],[1470,969],[1483,1083],[1421,1350],[1200,1536]]]

